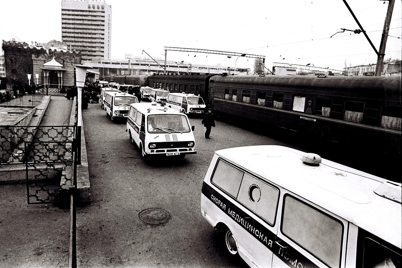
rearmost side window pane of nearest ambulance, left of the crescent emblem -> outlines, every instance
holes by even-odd
[[[244,172],[238,168],[219,159],[211,180],[219,188],[236,198],[243,174]]]

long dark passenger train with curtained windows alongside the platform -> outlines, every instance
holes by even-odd
[[[207,74],[117,80],[200,95],[219,120],[400,181],[395,171],[402,160],[401,76]]]

